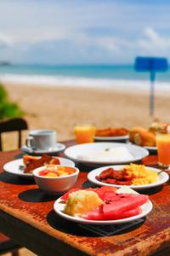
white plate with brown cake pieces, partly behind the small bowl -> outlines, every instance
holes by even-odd
[[[26,154],[21,159],[6,163],[3,170],[20,177],[33,177],[33,170],[46,165],[75,166],[75,163],[63,157],[48,154],[43,154],[41,157]]]

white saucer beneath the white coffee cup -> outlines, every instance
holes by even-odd
[[[34,154],[34,155],[40,155],[40,154],[56,154],[60,151],[63,151],[65,149],[65,144],[62,143],[55,143],[53,148],[49,149],[34,149],[25,146],[22,146],[20,148],[22,151],[24,151],[26,154]]]

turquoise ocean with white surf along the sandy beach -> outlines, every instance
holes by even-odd
[[[150,73],[136,72],[133,65],[0,65],[0,81],[144,90],[150,84]],[[156,87],[170,90],[170,70],[156,73]]]

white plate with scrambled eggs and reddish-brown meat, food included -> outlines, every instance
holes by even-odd
[[[104,166],[88,173],[88,180],[99,186],[128,186],[132,189],[156,187],[166,183],[168,178],[167,172],[133,163],[127,166]]]

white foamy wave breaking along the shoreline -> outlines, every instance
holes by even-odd
[[[45,86],[76,86],[101,89],[136,89],[146,90],[150,88],[150,81],[144,80],[125,80],[125,79],[94,79],[84,77],[69,76],[49,76],[49,75],[26,75],[26,74],[1,74],[1,82],[17,84],[37,84]],[[156,90],[170,90],[170,82],[156,81]]]

